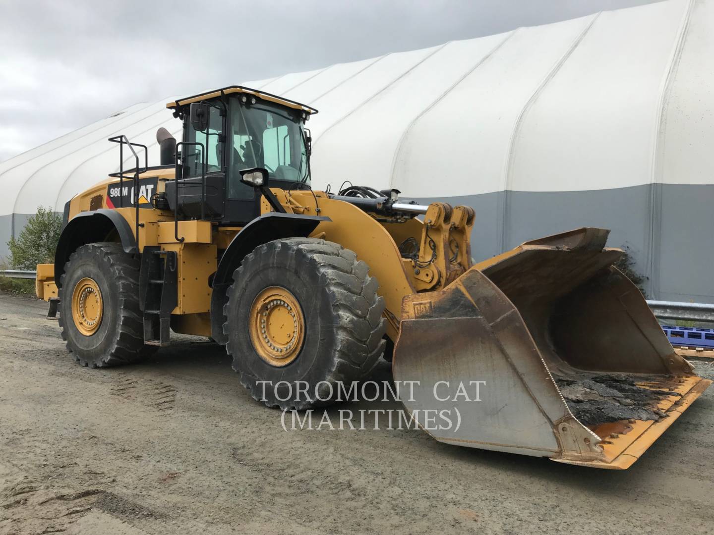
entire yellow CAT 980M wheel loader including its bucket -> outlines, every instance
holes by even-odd
[[[633,464],[710,384],[613,266],[608,230],[475,263],[472,208],[311,189],[316,109],[243,86],[167,107],[182,140],[160,128],[150,167],[146,146],[110,138],[119,172],[66,203],[54,265],[37,267],[81,365],[200,335],[253,398],[308,409],[384,358],[411,387],[406,414],[450,411],[453,426],[416,417],[441,442],[607,469]]]

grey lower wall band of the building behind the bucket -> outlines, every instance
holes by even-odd
[[[656,196],[653,187],[511,191],[506,196],[503,248],[498,246],[501,243],[498,200],[503,193],[416,200],[421,203],[443,200],[473,207],[476,223],[471,250],[476,260],[497,255],[527,240],[573,228],[609,228],[608,245],[625,249],[635,271],[648,277],[644,284],[648,297],[714,302],[711,245],[714,186],[659,185]]]

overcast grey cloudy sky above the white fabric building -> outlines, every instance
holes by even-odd
[[[651,0],[0,0],[0,161],[142,101]]]

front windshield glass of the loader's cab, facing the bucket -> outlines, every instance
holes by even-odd
[[[231,148],[231,177],[240,180],[239,170],[263,167],[272,180],[290,183],[309,180],[303,128],[298,118],[279,108],[260,103],[246,107],[234,101],[231,130],[227,140]],[[231,191],[228,193],[233,196]]]

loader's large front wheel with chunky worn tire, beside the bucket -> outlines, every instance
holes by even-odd
[[[223,310],[226,351],[233,357],[241,384],[268,407],[308,409],[331,404],[338,395],[338,382],[349,389],[352,381],[371,372],[384,352],[384,300],[377,288],[366,263],[337,243],[288,238],[259,245],[233,273]],[[278,297],[276,310],[282,306],[283,311],[276,314],[283,314],[287,319],[283,324],[289,327],[286,334],[278,333],[283,342],[273,343],[286,344],[281,347],[290,357],[266,356],[265,347],[260,347],[263,311],[272,313],[271,289],[285,296]],[[265,299],[267,304],[259,307]],[[296,342],[288,341],[293,317]],[[293,343],[299,344],[295,354]],[[268,381],[264,389],[260,381]],[[303,389],[299,394],[298,386]]]

